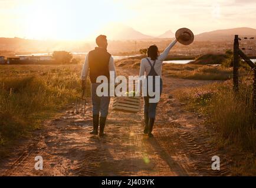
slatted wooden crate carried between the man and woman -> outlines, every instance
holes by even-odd
[[[113,110],[130,113],[140,112],[140,97],[116,97],[113,101]]]

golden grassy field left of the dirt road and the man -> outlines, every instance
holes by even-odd
[[[74,102],[80,72],[81,65],[0,66],[0,149]]]

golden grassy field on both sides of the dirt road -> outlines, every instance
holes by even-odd
[[[41,126],[41,122],[61,112],[67,103],[80,95],[82,65],[4,65],[0,66],[0,156],[5,146],[20,137],[27,137]],[[124,59],[116,66],[136,69],[140,59]],[[135,73],[135,72],[134,72]],[[183,79],[227,80],[200,88],[185,89],[177,97],[187,103],[190,110],[203,113],[208,125],[216,130],[220,146],[231,146],[248,154],[238,165],[237,174],[255,169],[256,133],[252,114],[252,75],[239,70],[244,78],[240,92],[232,92],[232,68],[206,65],[163,65],[163,75]],[[87,87],[87,95],[90,95]],[[251,174],[251,173],[249,173]]]

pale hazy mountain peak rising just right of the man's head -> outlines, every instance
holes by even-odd
[[[155,38],[150,35],[145,35],[135,29],[122,25],[122,24],[109,24],[104,28],[100,29],[99,33],[107,35],[110,40],[138,40],[138,39],[152,39]]]

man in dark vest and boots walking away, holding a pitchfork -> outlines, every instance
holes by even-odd
[[[101,83],[96,83],[98,76],[106,76],[110,79],[110,71],[114,71],[116,78],[116,69],[114,66],[114,59],[107,52],[107,36],[100,35],[96,38],[96,47],[90,51],[86,56],[86,61],[83,65],[81,73],[82,89],[86,89],[86,79],[88,70],[90,70],[91,80],[91,100],[93,102],[93,131],[91,135],[98,134],[99,115],[100,115],[100,133],[99,136],[104,136],[104,127],[106,125],[107,114],[109,113],[110,96],[97,96],[96,89]],[[109,93],[109,92],[108,92]]]

